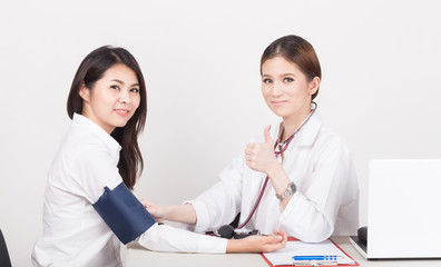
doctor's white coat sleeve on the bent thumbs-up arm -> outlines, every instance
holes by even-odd
[[[290,236],[308,243],[332,235],[347,179],[354,175],[344,142],[335,136],[322,141],[316,147],[320,151],[311,159],[314,162],[307,186],[297,188],[280,217]]]

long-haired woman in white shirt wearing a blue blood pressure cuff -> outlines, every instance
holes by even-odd
[[[143,170],[138,135],[147,115],[146,86],[135,58],[101,47],[78,68],[70,89],[72,119],[49,171],[43,237],[35,266],[121,266],[120,243],[159,251],[272,251],[286,234],[226,240],[158,225],[130,189]]]

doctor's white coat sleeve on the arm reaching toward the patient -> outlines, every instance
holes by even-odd
[[[183,227],[196,233],[217,230],[234,220],[241,211],[244,160],[241,156],[233,159],[219,174],[219,181],[196,199],[186,201],[193,205],[197,216],[196,225]]]

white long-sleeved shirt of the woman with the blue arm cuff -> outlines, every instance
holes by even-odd
[[[74,116],[49,171],[43,205],[43,237],[32,253],[33,266],[121,266],[120,243],[94,209],[107,186],[122,182],[119,144],[98,125]],[[151,250],[225,253],[227,240],[153,225],[137,238]],[[148,263],[147,263],[148,265]]]

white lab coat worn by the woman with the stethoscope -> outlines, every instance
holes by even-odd
[[[280,126],[271,136],[277,139]],[[263,142],[263,135],[251,140]],[[323,126],[314,113],[284,152],[283,167],[297,191],[282,210],[268,181],[255,215],[245,226],[270,234],[284,229],[304,241],[322,241],[331,235],[353,235],[359,227],[359,186],[351,154],[345,142]],[[233,159],[219,175],[219,181],[193,204],[196,225],[185,228],[203,233],[229,224],[241,211],[244,221],[253,208],[266,175],[247,167],[244,154]]]

